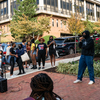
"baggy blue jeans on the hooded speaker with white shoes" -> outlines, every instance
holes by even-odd
[[[88,67],[90,80],[95,82],[94,81],[93,56],[81,55],[81,58],[80,58],[80,61],[79,61],[79,69],[78,69],[77,79],[82,80],[86,67]]]

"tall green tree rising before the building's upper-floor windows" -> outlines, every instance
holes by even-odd
[[[14,16],[12,18],[12,20],[14,21],[18,21],[20,20],[18,16],[22,17],[23,14],[28,16],[29,20],[35,20],[36,17],[34,17],[34,15],[36,15],[36,0],[17,0],[17,5],[18,6],[18,10],[14,9]]]

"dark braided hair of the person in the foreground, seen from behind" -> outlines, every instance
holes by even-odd
[[[30,86],[32,89],[30,97],[33,97],[35,100],[42,100],[42,97],[45,100],[48,100],[48,98],[49,100],[56,100],[56,97],[61,100],[61,97],[53,92],[52,79],[45,73],[34,76],[31,79]]]

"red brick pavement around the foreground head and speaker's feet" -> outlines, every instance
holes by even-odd
[[[100,80],[88,85],[89,79],[83,78],[82,83],[73,84],[76,76],[59,73],[39,71],[8,80],[8,91],[0,93],[0,100],[23,100],[30,93],[31,78],[38,73],[47,73],[54,82],[54,92],[60,95],[63,100],[100,100]]]

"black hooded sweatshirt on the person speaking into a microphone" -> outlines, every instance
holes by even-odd
[[[82,49],[82,55],[94,56],[94,41],[90,37],[90,32],[84,31],[83,33],[86,34],[85,39],[83,39],[82,42],[79,42],[79,48]]]

